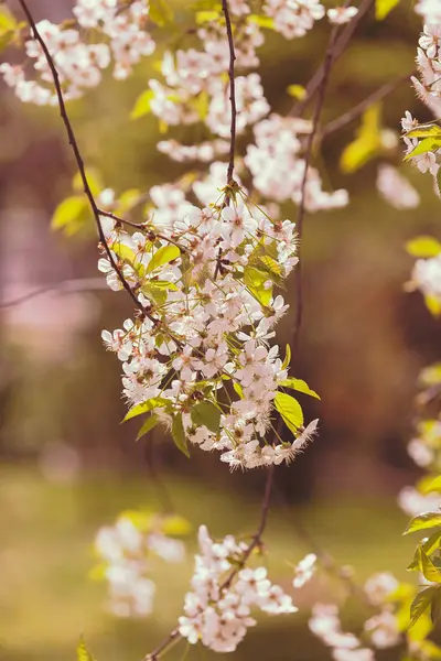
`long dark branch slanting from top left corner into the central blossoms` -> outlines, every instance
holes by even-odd
[[[98,236],[99,236],[100,243],[103,245],[103,248],[105,249],[105,251],[107,253],[107,258],[108,258],[108,260],[109,260],[112,269],[117,273],[118,279],[119,279],[121,285],[127,291],[127,293],[129,294],[129,296],[132,299],[132,301],[133,301],[135,305],[137,306],[137,308],[141,312],[141,314],[143,316],[148,316],[153,323],[155,323],[154,317],[151,317],[148,314],[148,312],[144,310],[143,305],[138,301],[138,299],[137,299],[133,290],[131,289],[130,284],[127,282],[127,280],[125,279],[125,277],[122,275],[122,272],[119,269],[119,267],[118,267],[118,264],[117,264],[117,262],[116,262],[116,260],[115,260],[115,258],[112,256],[112,252],[111,252],[109,246],[107,245],[107,240],[106,240],[106,237],[105,237],[105,234],[104,234],[104,230],[103,230],[103,226],[101,226],[101,220],[100,220],[100,217],[99,217],[99,209],[98,209],[98,206],[97,206],[97,204],[95,202],[94,194],[92,193],[90,185],[89,185],[89,182],[88,182],[88,178],[87,178],[87,174],[86,174],[86,169],[85,169],[85,165],[84,165],[84,162],[83,162],[83,158],[82,158],[82,154],[80,154],[80,151],[79,151],[79,148],[78,148],[78,142],[76,140],[76,137],[75,137],[75,133],[74,133],[71,120],[69,120],[68,115],[67,115],[66,105],[64,102],[63,91],[62,91],[62,87],[61,87],[61,84],[60,84],[58,72],[56,69],[56,66],[55,66],[54,61],[52,58],[52,55],[51,55],[51,53],[50,53],[50,51],[49,51],[49,48],[46,46],[46,43],[45,43],[44,39],[42,37],[42,35],[40,34],[39,29],[36,28],[35,21],[34,21],[33,17],[32,17],[32,13],[31,13],[31,11],[30,11],[30,9],[29,9],[25,0],[19,0],[19,3],[20,3],[20,6],[21,6],[21,8],[22,8],[22,10],[23,10],[23,12],[24,12],[24,14],[26,17],[28,23],[29,23],[29,25],[30,25],[30,28],[32,30],[32,33],[33,33],[33,37],[39,42],[39,44],[40,44],[40,46],[41,46],[41,48],[42,48],[42,51],[44,53],[45,59],[47,62],[47,66],[51,69],[52,78],[53,78],[54,86],[55,86],[56,97],[57,97],[57,100],[58,100],[60,115],[62,117],[64,127],[66,129],[68,142],[69,142],[69,144],[72,147],[72,151],[73,151],[74,156],[75,156],[75,161],[76,161],[76,164],[77,164],[79,176],[82,178],[82,183],[83,183],[85,195],[86,195],[86,197],[88,199],[90,209],[92,209],[94,218],[95,218],[95,223],[96,223],[96,226],[97,226],[97,230],[98,230]]]

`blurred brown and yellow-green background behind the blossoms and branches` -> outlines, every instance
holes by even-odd
[[[67,1],[30,4],[37,18],[68,15]],[[184,28],[191,17],[182,7],[176,17],[173,28],[154,35],[157,54],[130,80],[106,77],[99,89],[71,105],[86,163],[117,193],[133,186],[148,191],[185,172],[157,152],[153,117],[128,119],[149,77],[158,75],[154,62],[164,43],[190,45]],[[323,120],[410,73],[419,30],[407,0],[384,23],[369,15],[333,71]],[[324,21],[294,42],[267,33],[260,73],[275,111],[289,110],[287,86],[308,82],[327,35]],[[12,52],[7,57],[20,61]],[[187,462],[166,440],[135,443],[136,424],[120,426],[119,362],[105,353],[99,335],[130,315],[122,294],[52,291],[4,305],[63,280],[96,278],[97,252],[92,226],[68,239],[50,228],[74,174],[57,112],[22,106],[4,86],[0,94],[0,658],[67,661],[84,632],[100,661],[140,660],[181,611],[191,557],[183,567],[158,562],[154,614],[140,621],[106,615],[105,586],[87,574],[97,528],[128,507],[160,508],[152,443],[155,470],[193,524],[193,545],[201,522],[218,535],[251,532],[263,475],[229,475],[216,457],[196,451]],[[398,131],[405,109],[428,119],[407,84],[384,101],[384,124]],[[416,378],[441,351],[438,322],[418,293],[404,292],[412,266],[404,243],[417,234],[438,234],[440,207],[430,178],[410,166],[402,171],[421,205],[408,212],[392,209],[376,193],[377,160],[343,175],[338,158],[356,127],[332,134],[319,162],[326,187],[349,191],[349,206],[310,216],[304,228],[305,311],[293,373],[322,395],[321,402],[304,402],[308,416],[320,418],[321,431],[293,466],[277,474],[266,542],[271,575],[286,587],[292,578],[287,563],[310,550],[303,529],[338,564],[353,564],[361,582],[388,568],[406,577],[413,546],[400,537],[406,517],[396,495],[417,476],[406,455]],[[186,143],[209,138],[201,127],[172,130],[170,137]],[[400,147],[386,160],[398,165]],[[283,212],[295,217],[289,205]],[[293,301],[292,283],[287,300]],[[290,315],[283,318],[279,344],[289,342],[292,324]],[[330,658],[308,631],[308,605],[343,596],[337,579],[319,577],[299,593],[305,607],[300,614],[261,618],[235,658]],[[362,606],[349,602],[348,626],[357,630],[362,616]],[[184,652],[181,644],[171,658]],[[190,650],[189,658],[198,657],[209,654]]]

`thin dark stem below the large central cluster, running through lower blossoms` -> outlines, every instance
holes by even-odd
[[[224,581],[224,583],[220,584],[220,586],[219,586],[220,593],[225,589],[228,589],[228,587],[232,585],[232,583],[235,579],[235,577],[237,576],[237,574],[240,572],[240,570],[244,568],[244,566],[245,566],[248,557],[251,555],[252,551],[255,549],[258,549],[261,546],[262,535],[263,535],[265,529],[267,527],[267,521],[268,521],[268,512],[269,512],[269,506],[270,506],[270,500],[271,500],[273,475],[275,475],[275,466],[271,465],[268,468],[268,473],[267,473],[263,499],[262,499],[262,503],[261,503],[261,508],[260,508],[259,525],[258,525],[255,534],[251,538],[251,542],[249,543],[247,549],[244,551],[244,555],[241,556],[240,562],[237,564],[237,566],[234,568],[234,571],[229,574],[229,576]],[[179,640],[181,640],[181,638],[182,638],[182,636],[180,633],[179,627],[175,627],[173,629],[173,631],[171,631],[169,633],[169,636],[166,638],[164,638],[164,640],[152,652],[150,652],[149,654],[147,654],[147,657],[143,658],[142,661],[158,661],[160,655],[163,652],[166,652],[169,649],[171,649]]]

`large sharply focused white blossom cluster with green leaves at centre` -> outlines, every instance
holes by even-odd
[[[103,334],[122,361],[127,418],[150,413],[181,449],[190,440],[220,451],[232,468],[289,463],[316,427],[303,427],[299,402],[280,389],[315,393],[288,378],[289,359],[268,344],[288,308],[273,288],[298,261],[294,224],[245,202],[237,186],[202,209],[176,196],[174,213],[153,213],[132,235],[106,217],[119,274],[107,258],[98,264],[114,290],[123,277],[142,311]],[[271,432],[275,408],[293,442]]]

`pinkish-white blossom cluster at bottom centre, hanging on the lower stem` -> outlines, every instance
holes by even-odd
[[[202,641],[216,652],[233,652],[256,624],[252,607],[271,615],[298,610],[291,597],[268,579],[265,567],[237,571],[246,543],[232,535],[216,543],[205,525],[200,528],[198,542],[193,592],[185,595],[185,615],[179,619],[179,631],[190,643]]]

